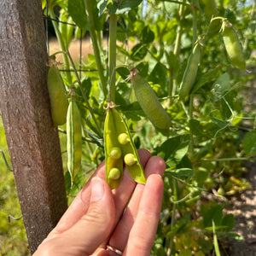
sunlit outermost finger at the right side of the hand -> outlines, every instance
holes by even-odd
[[[163,189],[163,181],[159,175],[152,174],[148,177],[123,255],[150,254],[160,218]]]

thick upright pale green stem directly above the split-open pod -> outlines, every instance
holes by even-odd
[[[116,31],[117,15],[111,14],[109,17],[109,43],[108,43],[108,100],[115,100],[115,67],[116,67]]]

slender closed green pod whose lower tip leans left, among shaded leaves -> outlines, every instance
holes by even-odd
[[[181,101],[187,101],[189,97],[190,90],[195,84],[195,78],[198,70],[198,66],[201,60],[201,44],[196,43],[195,47],[189,56],[189,61],[185,72],[183,74],[183,80],[181,83],[181,88],[179,91],[179,99]]]

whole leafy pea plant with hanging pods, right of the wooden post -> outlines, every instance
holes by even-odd
[[[160,155],[165,194],[153,255],[220,255],[221,238],[241,238],[218,198],[250,188],[242,161],[256,154],[255,112],[244,110],[255,64],[252,4],[42,1],[61,48],[49,59],[63,60],[49,74],[49,96],[68,199],[103,159],[114,189],[123,160],[145,182],[137,148]],[[81,49],[90,40],[94,53],[73,57],[76,40]]]

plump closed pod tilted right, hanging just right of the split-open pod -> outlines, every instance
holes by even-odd
[[[135,68],[131,69],[129,78],[131,78],[137,101],[151,123],[159,129],[168,129],[171,126],[171,119],[150,84],[138,74]]]

